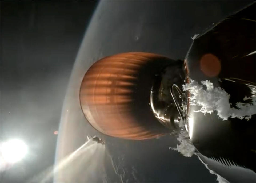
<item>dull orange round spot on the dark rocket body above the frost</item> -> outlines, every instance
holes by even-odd
[[[207,53],[200,59],[200,68],[206,76],[214,77],[221,71],[221,62],[215,55]]]

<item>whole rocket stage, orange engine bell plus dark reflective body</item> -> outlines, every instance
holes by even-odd
[[[230,94],[231,105],[251,96],[256,82],[255,17],[253,3],[218,23],[193,40],[184,61],[143,52],[97,61],[81,84],[85,117],[105,135],[133,140],[177,135],[185,121],[198,156],[211,170],[230,182],[255,182],[255,114],[249,121],[223,121],[216,113],[196,113],[200,106],[191,106],[190,93],[179,89],[190,79],[209,80]]]

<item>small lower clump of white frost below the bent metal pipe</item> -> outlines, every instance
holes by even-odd
[[[181,131],[177,140],[180,144],[176,148],[171,148],[172,150],[178,151],[185,157],[191,157],[195,153],[195,146],[191,143],[187,131]]]

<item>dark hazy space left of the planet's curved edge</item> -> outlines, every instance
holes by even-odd
[[[22,139],[32,152],[1,172],[1,182],[26,182],[53,165],[54,131],[97,3],[1,1],[1,140]]]

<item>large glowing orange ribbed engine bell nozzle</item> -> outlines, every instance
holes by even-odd
[[[140,140],[170,133],[152,112],[150,95],[155,76],[174,62],[143,52],[121,53],[97,61],[81,84],[85,117],[96,130],[119,138]]]

